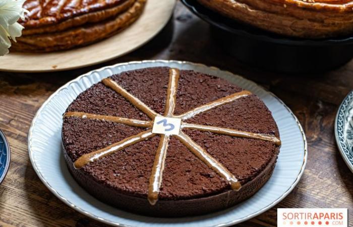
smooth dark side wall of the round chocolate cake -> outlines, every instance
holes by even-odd
[[[183,217],[207,214],[229,208],[250,198],[258,192],[272,176],[279,153],[279,147],[276,147],[276,153],[263,171],[254,179],[244,184],[239,191],[229,189],[216,195],[194,199],[160,199],[155,205],[151,205],[147,197],[143,198],[123,194],[95,181],[92,177],[86,175],[82,169],[74,167],[74,162],[66,151],[64,141],[62,141],[62,148],[70,174],[75,181],[93,197],[122,210],[156,217]]]

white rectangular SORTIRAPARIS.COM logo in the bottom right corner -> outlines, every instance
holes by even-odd
[[[347,227],[346,208],[278,208],[277,227]]]

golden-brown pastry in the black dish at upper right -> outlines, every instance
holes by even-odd
[[[350,0],[198,0],[232,19],[275,33],[323,38],[353,31]]]

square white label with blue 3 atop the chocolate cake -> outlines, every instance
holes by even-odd
[[[181,123],[182,119],[180,118],[166,118],[157,116],[154,118],[152,133],[179,135]]]

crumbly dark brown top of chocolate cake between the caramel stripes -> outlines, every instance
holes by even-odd
[[[169,70],[166,67],[146,68],[114,75],[110,79],[156,113],[163,115]],[[181,115],[200,105],[241,91],[243,89],[224,79],[181,70],[174,114]],[[70,104],[67,112],[151,121],[143,111],[102,82],[81,93]],[[185,122],[279,137],[271,112],[253,94],[199,113]],[[68,165],[72,165],[84,154],[145,130],[110,121],[64,118],[62,136]],[[275,161],[278,154],[278,146],[272,141],[220,135],[196,129],[182,131],[227,168],[241,185],[263,175],[266,167],[271,169],[268,167],[269,163],[274,166],[273,160]],[[122,195],[145,198],[147,201],[152,166],[160,138],[157,134],[151,139],[85,164],[78,171],[94,184],[98,183]],[[71,172],[75,175],[76,170]],[[92,190],[95,189],[88,189],[90,192]],[[157,204],[163,200],[205,198],[229,190],[231,187],[225,178],[195,156],[180,140],[170,137]]]

